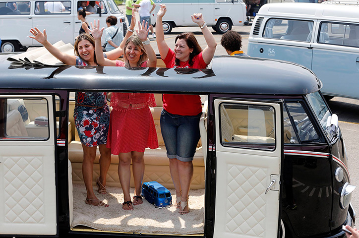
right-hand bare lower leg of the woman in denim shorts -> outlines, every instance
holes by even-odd
[[[181,204],[183,202],[187,201],[188,193],[189,193],[189,187],[191,185],[191,181],[193,178],[193,164],[192,161],[190,162],[182,162],[178,161],[178,173],[180,178],[180,184],[182,188],[182,195],[181,195]],[[186,214],[188,213],[188,206],[181,207],[180,214]]]

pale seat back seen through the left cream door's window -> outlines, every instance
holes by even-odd
[[[16,109],[6,114],[6,135],[10,137],[28,136],[21,114]]]

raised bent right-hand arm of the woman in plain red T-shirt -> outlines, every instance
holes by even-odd
[[[191,15],[192,21],[197,23],[201,28],[204,39],[206,40],[207,46],[204,48],[202,57],[205,63],[210,63],[213,59],[214,53],[216,51],[217,42],[212,35],[212,32],[208,29],[207,23],[203,19],[202,13],[195,13]]]

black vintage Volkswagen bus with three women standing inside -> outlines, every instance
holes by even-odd
[[[342,225],[354,226],[355,186],[338,118],[320,92],[321,81],[305,67],[226,56],[214,58],[207,69],[1,63],[0,71],[0,236],[193,237],[183,226],[195,221],[202,227],[195,234],[200,237],[342,238]],[[202,208],[168,220],[171,235],[153,226],[144,234],[132,221],[146,223],[150,212],[133,217],[117,203],[91,208],[100,218],[74,225],[78,204],[88,206],[73,198],[83,184],[82,147],[72,116],[77,91],[155,93],[151,113],[160,147],[144,152],[143,182],[156,180],[169,189],[174,187],[159,123],[161,94],[202,96],[190,191],[202,189],[197,195]],[[30,134],[38,115],[48,115],[49,126],[33,126],[36,133]],[[111,163],[107,186],[116,187],[118,156]],[[114,219],[109,209],[118,211],[116,217],[126,214],[115,231],[108,225]],[[88,212],[82,211],[84,217]],[[156,213],[168,219],[174,212]],[[192,214],[197,216],[188,222]]]

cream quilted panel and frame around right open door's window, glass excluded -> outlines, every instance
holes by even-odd
[[[216,134],[222,102],[271,106],[275,109],[276,149],[274,151],[224,147],[216,137],[216,208],[214,237],[277,237],[279,191],[265,190],[271,175],[280,175],[281,108],[276,103],[215,100]],[[277,181],[278,183],[279,181]]]

